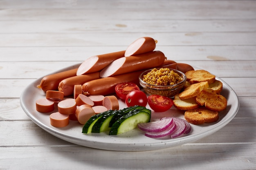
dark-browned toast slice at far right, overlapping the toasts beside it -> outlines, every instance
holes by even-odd
[[[202,90],[195,98],[196,102],[201,106],[205,106],[214,111],[222,111],[227,108],[227,99],[218,95],[212,89]]]

